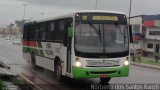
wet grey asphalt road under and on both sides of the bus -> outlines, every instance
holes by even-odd
[[[37,85],[46,86],[50,90],[87,90],[92,84],[99,84],[99,79],[66,79],[64,82],[56,82],[54,73],[42,68],[33,70],[22,57],[22,47],[12,45],[11,42],[1,40],[0,56],[11,65],[14,73],[24,73]],[[160,84],[160,70],[141,66],[130,66],[129,77],[112,78],[109,84]]]

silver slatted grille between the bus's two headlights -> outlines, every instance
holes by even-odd
[[[120,60],[86,60],[87,67],[116,67],[120,66]]]

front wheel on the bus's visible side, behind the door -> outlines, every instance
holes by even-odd
[[[61,62],[59,60],[57,60],[55,62],[55,76],[57,81],[61,82],[62,81],[62,66],[61,66]]]

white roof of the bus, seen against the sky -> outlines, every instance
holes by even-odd
[[[45,21],[49,21],[49,20],[54,20],[54,19],[61,19],[61,18],[68,18],[68,17],[74,17],[74,15],[76,13],[117,13],[117,14],[124,14],[123,12],[118,12],[118,11],[106,11],[106,10],[78,10],[78,11],[72,11],[72,12],[68,12],[66,14],[61,14],[59,16],[54,16],[54,17],[50,17],[50,18],[45,18],[45,19],[40,19],[40,20],[36,20],[36,22],[45,22]],[[30,21],[30,22],[35,22],[35,21]]]

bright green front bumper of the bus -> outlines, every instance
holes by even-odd
[[[73,78],[100,78],[100,77],[126,77],[129,75],[129,66],[115,68],[82,68],[72,67]]]

